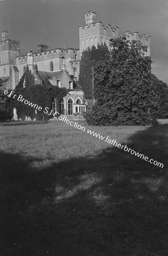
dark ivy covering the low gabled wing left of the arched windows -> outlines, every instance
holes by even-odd
[[[53,85],[35,85],[34,76],[27,67],[27,70],[15,88],[15,94],[17,96],[14,98],[14,95],[12,94],[7,107],[10,107],[11,109],[16,108],[18,118],[24,119],[25,116],[27,116],[41,120],[53,117],[54,113],[51,113],[51,110],[54,98],[57,102],[57,112],[59,112],[59,103],[62,98],[66,96],[67,90],[66,88],[59,88],[58,86]],[[24,98],[29,101],[30,104],[24,104],[24,100],[19,101],[19,95],[23,96],[20,96],[21,99]],[[32,107],[31,102],[32,104],[36,104],[38,107],[41,106],[42,109],[38,110],[37,107]]]

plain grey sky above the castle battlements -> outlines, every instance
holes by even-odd
[[[36,52],[37,44],[79,48],[78,27],[84,14],[96,12],[96,20],[125,31],[151,37],[152,72],[168,84],[167,0],[0,0],[0,30],[19,40],[21,53]]]

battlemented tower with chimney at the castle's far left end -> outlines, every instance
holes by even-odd
[[[8,32],[6,30],[2,31],[0,77],[4,81],[3,88],[14,89],[19,82],[19,71],[16,67],[16,57],[19,56],[19,52],[20,42],[8,39]]]

